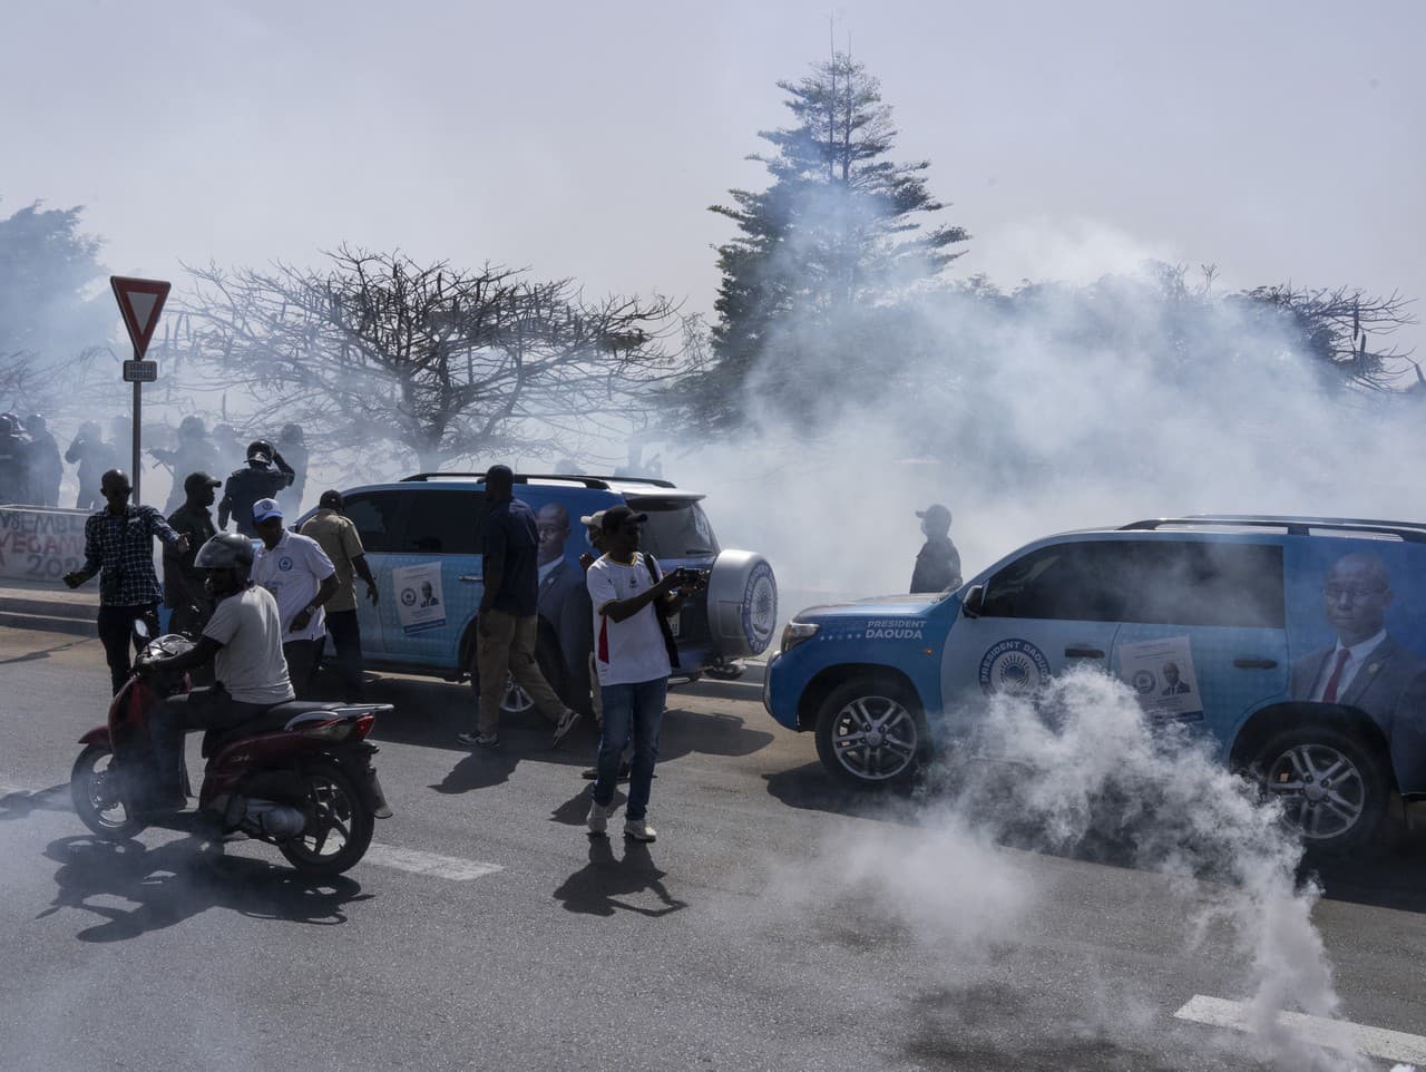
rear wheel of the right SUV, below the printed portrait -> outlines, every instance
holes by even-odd
[[[1386,811],[1390,781],[1362,741],[1329,726],[1302,726],[1272,737],[1252,761],[1266,795],[1318,852],[1366,844]]]

